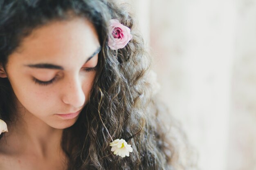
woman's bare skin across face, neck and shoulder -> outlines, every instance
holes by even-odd
[[[67,168],[62,132],[79,116],[60,114],[80,113],[88,103],[99,49],[92,23],[72,18],[34,29],[9,56],[0,77],[11,82],[19,119],[0,140],[0,170]]]

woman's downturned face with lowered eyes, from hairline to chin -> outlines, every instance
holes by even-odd
[[[88,103],[99,50],[97,32],[84,18],[34,29],[6,66],[22,106],[18,113],[25,110],[54,128],[72,126]]]

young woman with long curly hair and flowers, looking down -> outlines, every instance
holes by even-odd
[[[149,66],[112,1],[1,0],[0,170],[171,169]]]

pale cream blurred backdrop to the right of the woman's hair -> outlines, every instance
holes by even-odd
[[[256,170],[256,0],[121,0],[201,170]]]

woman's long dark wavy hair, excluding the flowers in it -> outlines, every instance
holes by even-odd
[[[63,131],[68,170],[167,170],[177,164],[173,138],[167,139],[146,78],[150,56],[124,7],[108,0],[0,1],[0,63],[4,67],[23,38],[54,20],[82,17],[97,30],[101,51],[89,102],[76,123]],[[110,19],[128,26],[133,35],[126,47],[117,51],[107,45]],[[14,97],[8,78],[1,78],[0,118],[7,124],[17,119]],[[112,154],[111,137],[132,145],[130,157]]]

